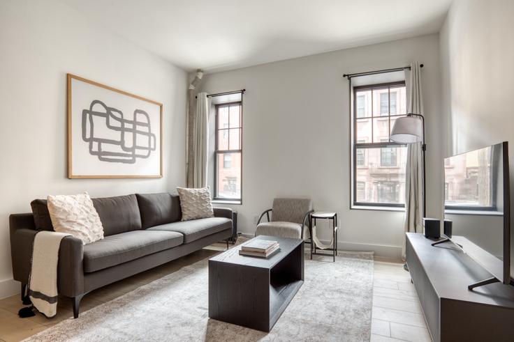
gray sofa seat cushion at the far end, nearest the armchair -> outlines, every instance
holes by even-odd
[[[189,243],[230,228],[232,228],[231,219],[208,217],[206,219],[192,219],[190,221],[162,224],[161,226],[148,228],[147,231],[175,231],[184,235],[184,243]]]

